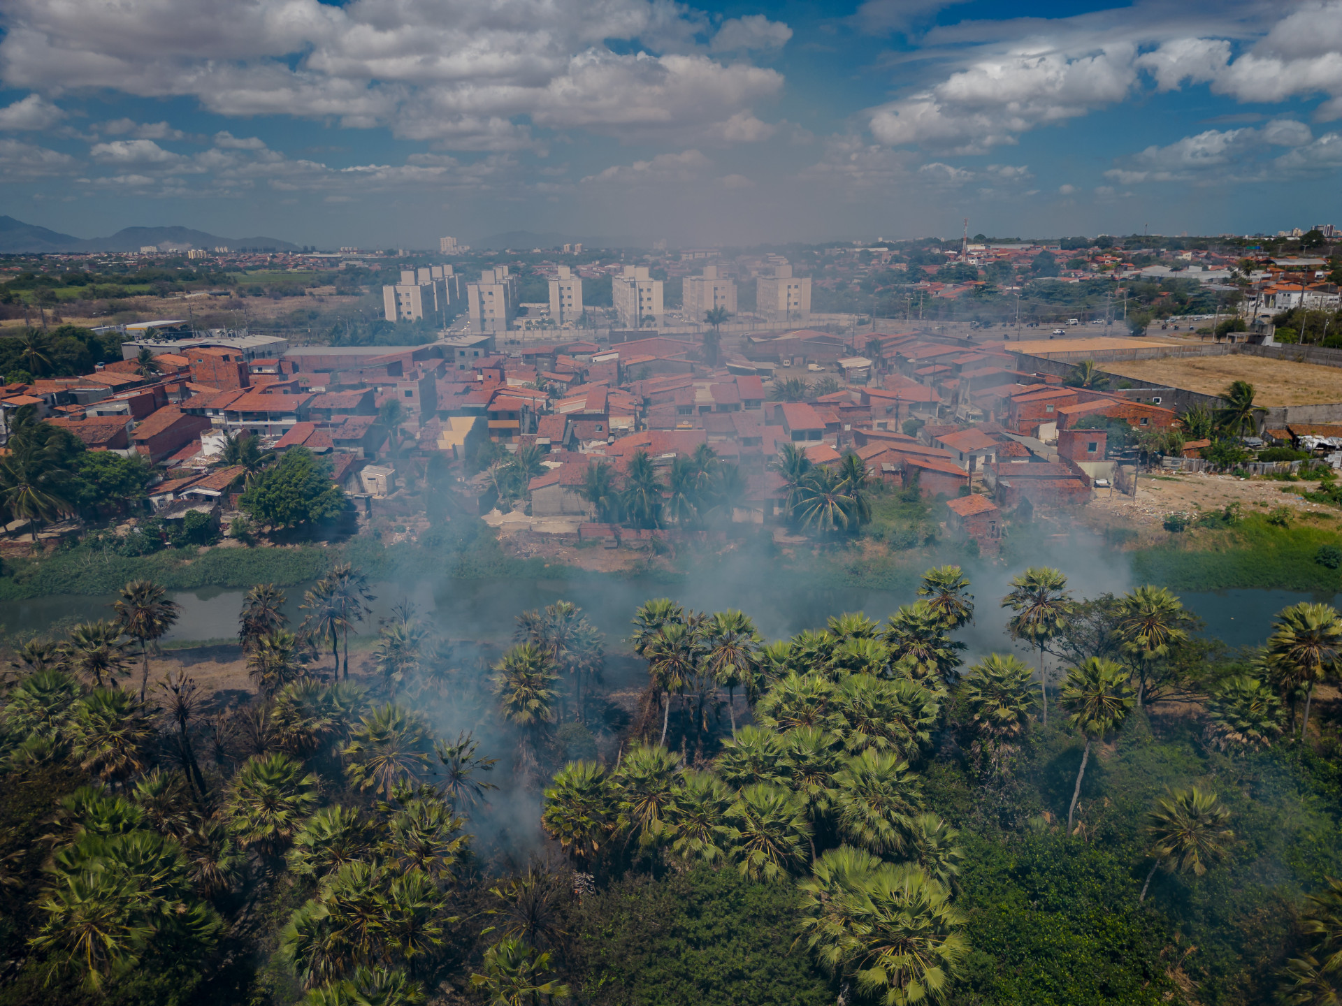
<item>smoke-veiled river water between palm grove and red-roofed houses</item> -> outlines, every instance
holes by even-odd
[[[973,577],[973,574],[972,574]],[[982,570],[974,586],[978,594],[978,617],[960,633],[969,657],[1011,648],[1005,634],[1005,612],[994,598],[1005,593],[1007,574]],[[1102,585],[1121,589],[1121,585]],[[287,588],[287,614],[291,622],[302,620],[305,585]],[[377,600],[372,604],[370,624],[391,613],[392,605],[408,600],[431,618],[437,632],[450,638],[468,638],[502,644],[513,633],[515,616],[527,609],[544,608],[558,600],[581,605],[599,629],[607,634],[607,647],[619,651],[620,640],[629,633],[633,609],[650,597],[671,597],[687,608],[722,610],[739,608],[752,616],[760,632],[769,638],[790,636],[801,629],[821,628],[840,612],[863,610],[872,618],[891,614],[914,598],[892,590],[860,588],[817,588],[782,574],[778,577],[705,578],[683,583],[658,579],[581,577],[574,579],[447,579],[436,583],[374,583]],[[243,592],[225,589],[184,590],[172,594],[181,605],[181,617],[165,642],[229,640],[238,634],[238,613]],[[11,634],[47,634],[63,630],[74,621],[109,618],[113,597],[59,596],[31,601],[0,604],[0,626]],[[1224,640],[1229,647],[1257,645],[1271,629],[1274,616],[1299,601],[1330,601],[1288,590],[1224,590],[1182,594],[1185,606],[1206,622],[1206,634]]]

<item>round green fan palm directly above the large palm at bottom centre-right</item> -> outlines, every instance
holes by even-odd
[[[895,754],[867,748],[835,774],[839,833],[876,856],[909,846],[921,802],[918,777]]]

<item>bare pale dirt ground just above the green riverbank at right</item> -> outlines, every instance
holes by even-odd
[[[1334,507],[1310,503],[1294,492],[1282,492],[1284,486],[1315,488],[1317,483],[1237,479],[1233,475],[1142,475],[1137,480],[1137,499],[1117,492],[1110,496],[1100,490],[1088,512],[1102,522],[1125,518],[1138,526],[1151,527],[1158,527],[1170,514],[1221,510],[1231,503],[1239,503],[1244,512],[1266,514],[1275,507],[1288,506],[1300,514],[1337,516]]]

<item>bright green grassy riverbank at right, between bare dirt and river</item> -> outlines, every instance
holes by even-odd
[[[1261,515],[1244,518],[1225,531],[1172,535],[1170,545],[1133,553],[1138,582],[1172,590],[1342,590],[1342,573],[1321,566],[1321,545],[1339,545],[1342,535],[1315,524],[1275,527]]]

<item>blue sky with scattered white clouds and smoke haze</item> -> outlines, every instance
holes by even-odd
[[[1342,225],[1342,0],[0,0],[0,212],[78,236]]]

